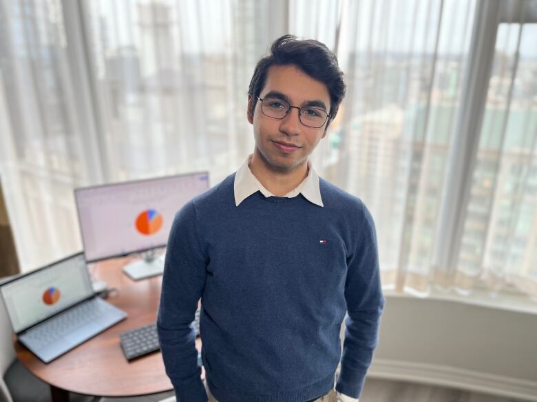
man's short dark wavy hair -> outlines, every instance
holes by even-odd
[[[326,85],[330,93],[330,120],[334,120],[341,100],[345,97],[343,71],[339,69],[337,57],[324,43],[308,39],[299,41],[294,35],[277,38],[271,46],[271,53],[255,66],[248,93],[253,97],[252,113],[255,111],[255,97],[265,85],[266,74],[273,65],[294,65],[308,76]],[[328,127],[326,124],[326,127]]]

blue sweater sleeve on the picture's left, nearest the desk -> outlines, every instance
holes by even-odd
[[[171,225],[157,317],[162,359],[178,402],[208,400],[198,366],[196,332],[190,326],[205,284],[207,262],[191,201]]]

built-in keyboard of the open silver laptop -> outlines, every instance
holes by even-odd
[[[32,342],[34,348],[48,345],[65,335],[76,331],[87,322],[92,322],[107,311],[107,304],[99,302],[97,298],[83,302],[78,306],[61,313],[56,317],[30,329],[25,333],[25,340]]]

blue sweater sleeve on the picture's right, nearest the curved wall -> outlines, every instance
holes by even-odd
[[[358,398],[366,372],[377,346],[380,317],[384,306],[377,252],[375,224],[363,207],[363,220],[352,254],[347,260],[345,300],[345,339],[341,356],[341,372],[336,390]]]

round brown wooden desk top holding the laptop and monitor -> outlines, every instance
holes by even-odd
[[[99,397],[134,397],[172,389],[160,352],[131,362],[123,355],[119,333],[156,321],[162,283],[162,276],[131,280],[121,271],[128,262],[128,258],[117,258],[97,263],[92,269],[95,278],[118,289],[106,300],[128,314],[125,320],[49,364],[14,342],[17,358],[36,377],[50,384],[54,402],[67,401],[67,391]],[[196,339],[196,347],[201,349],[200,338]]]

